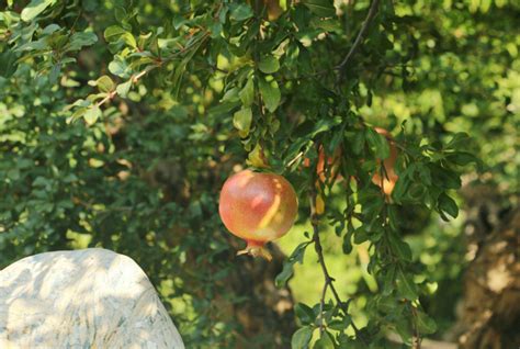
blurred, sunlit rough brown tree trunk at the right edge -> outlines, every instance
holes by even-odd
[[[493,191],[491,191],[493,192]],[[520,347],[520,209],[500,217],[496,194],[481,188],[466,198],[466,233],[474,256],[464,277],[464,300],[455,326],[461,348]],[[487,201],[485,199],[489,199]],[[501,201],[504,202],[504,200]]]

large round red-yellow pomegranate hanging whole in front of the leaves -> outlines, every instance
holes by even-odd
[[[298,211],[296,193],[282,176],[244,170],[229,177],[221,191],[218,213],[234,235],[247,241],[245,250],[271,260],[263,248],[285,235]]]

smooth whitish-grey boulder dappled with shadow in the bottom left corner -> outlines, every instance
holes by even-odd
[[[0,348],[179,348],[146,274],[104,249],[35,255],[0,271]]]

